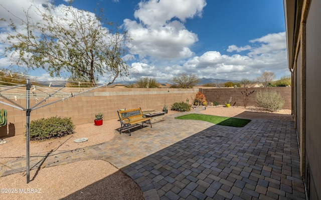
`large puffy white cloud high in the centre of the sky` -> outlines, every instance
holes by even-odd
[[[188,58],[190,46],[198,36],[186,29],[187,18],[201,16],[205,0],[149,0],[139,2],[134,16],[139,22],[125,19],[124,25],[133,38],[132,52],[142,59]]]

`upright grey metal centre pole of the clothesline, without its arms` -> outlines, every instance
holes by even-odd
[[[30,121],[30,99],[29,99],[29,92],[30,92],[31,84],[29,84],[29,79],[27,79],[27,120],[26,120],[26,140],[27,140],[27,183],[30,181],[30,152],[29,152],[29,121]]]

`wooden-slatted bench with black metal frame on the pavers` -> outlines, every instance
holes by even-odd
[[[121,134],[121,131],[123,129],[128,130],[129,136],[130,136],[130,127],[133,127],[135,125],[139,125],[138,123],[142,122],[141,127],[144,123],[150,124],[151,127],[151,122],[150,119],[151,117],[145,117],[142,114],[141,108],[133,108],[133,109],[125,109],[125,110],[117,110],[119,120],[121,127],[119,128],[119,134]]]

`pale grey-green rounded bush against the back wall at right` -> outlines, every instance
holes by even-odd
[[[272,91],[260,91],[256,93],[255,98],[259,107],[267,111],[276,111],[282,108],[284,105],[284,99],[279,92]]]

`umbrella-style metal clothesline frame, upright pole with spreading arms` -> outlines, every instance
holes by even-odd
[[[111,82],[109,82],[108,84],[110,84]],[[36,103],[33,107],[30,107],[30,88],[32,86],[32,84],[29,83],[29,79],[27,79],[27,82],[26,84],[22,84],[22,85],[17,85],[17,86],[14,86],[14,87],[10,87],[10,88],[7,88],[7,89],[3,89],[3,90],[0,90],[0,97],[8,100],[9,102],[11,102],[12,104],[10,103],[6,103],[6,102],[3,102],[3,101],[0,101],[0,103],[2,104],[5,104],[5,105],[8,105],[8,106],[11,106],[11,107],[14,107],[14,108],[17,108],[17,109],[20,109],[20,110],[25,110],[26,111],[26,140],[27,140],[27,144],[26,144],[26,148],[27,148],[27,154],[26,154],[26,158],[27,158],[27,168],[26,168],[26,175],[27,175],[27,183],[30,182],[30,134],[29,134],[29,123],[30,123],[30,113],[32,110],[35,110],[35,109],[38,109],[38,108],[41,108],[41,107],[44,107],[44,106],[47,106],[47,105],[50,105],[50,104],[53,104],[53,103],[56,103],[58,101],[64,101],[65,99],[69,99],[70,97],[74,97],[74,96],[77,96],[79,94],[82,94],[82,93],[85,93],[85,92],[88,92],[88,91],[91,91],[93,89],[97,89],[99,87],[103,87],[103,86],[107,86],[108,85],[107,83],[103,84],[103,85],[99,85],[99,86],[95,86],[93,88],[90,88],[90,89],[87,89],[87,90],[84,90],[82,92],[77,92],[77,93],[70,93],[70,95],[68,97],[63,97],[61,99],[58,99],[58,100],[55,100],[53,102],[49,102],[49,103],[46,103],[44,105],[40,105],[38,106],[39,104],[41,104],[42,102],[46,101],[47,99],[49,99],[50,97],[52,97],[55,93],[59,92],[60,90],[62,90],[63,88],[65,88],[65,86],[59,88],[58,90],[55,90],[53,93],[50,93],[48,94],[48,96],[46,96],[43,100],[39,101],[38,103]],[[4,96],[1,92],[2,91],[6,91],[6,90],[9,90],[9,89],[14,89],[14,88],[17,88],[17,87],[21,87],[21,86],[26,86],[26,100],[27,100],[27,104],[26,104],[26,107],[23,107],[22,105],[16,103],[15,101],[11,100],[10,98],[7,98],[6,96]]]

